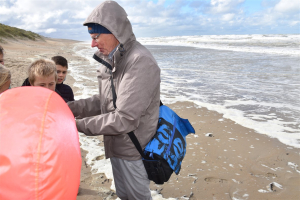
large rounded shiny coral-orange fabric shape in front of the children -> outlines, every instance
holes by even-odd
[[[0,95],[0,199],[76,199],[81,155],[74,116],[42,87]]]

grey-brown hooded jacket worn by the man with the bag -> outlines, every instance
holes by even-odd
[[[97,6],[85,20],[106,27],[120,42],[111,62],[97,51],[97,61],[108,62],[112,70],[100,64],[97,70],[99,95],[68,102],[77,118],[78,131],[86,135],[104,135],[106,158],[141,158],[127,133],[134,131],[142,148],[156,132],[160,104],[160,68],[151,53],[132,32],[125,10],[114,1]],[[113,106],[111,78],[117,101]],[[79,118],[79,119],[78,119]]]

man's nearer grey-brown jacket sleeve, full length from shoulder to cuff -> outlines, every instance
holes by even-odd
[[[152,56],[136,56],[127,65],[117,91],[117,109],[77,120],[79,131],[86,135],[118,135],[139,126],[141,117],[159,94],[160,69]],[[159,99],[156,100],[158,107]]]

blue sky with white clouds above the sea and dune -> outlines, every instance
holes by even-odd
[[[102,0],[0,0],[0,23],[88,41],[84,20]],[[299,0],[116,0],[136,37],[300,34]]]

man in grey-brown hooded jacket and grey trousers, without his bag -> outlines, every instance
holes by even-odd
[[[160,69],[151,53],[136,41],[125,10],[116,2],[97,6],[84,26],[92,47],[98,48],[94,59],[100,63],[99,95],[68,102],[78,131],[104,136],[105,155],[111,159],[116,193],[122,200],[152,199],[141,156],[127,133],[134,131],[142,148],[155,134]]]

